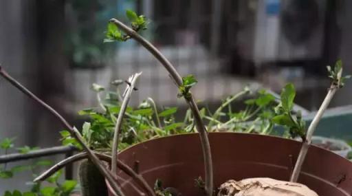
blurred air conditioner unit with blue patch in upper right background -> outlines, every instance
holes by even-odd
[[[326,3],[326,0],[258,1],[254,62],[320,58]]]

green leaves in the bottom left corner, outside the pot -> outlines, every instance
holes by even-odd
[[[38,147],[14,147],[14,138],[4,138],[0,141],[0,149],[3,150],[7,155],[9,151],[17,151],[18,153],[26,154],[39,149]],[[0,179],[10,179],[16,177],[18,173],[30,171],[33,179],[37,177],[39,169],[43,169],[47,166],[51,166],[50,160],[36,160],[32,164],[17,165],[8,168],[7,164],[3,164],[0,169]],[[54,175],[47,178],[45,186],[41,182],[28,182],[31,185],[28,191],[21,192],[19,190],[6,190],[3,192],[3,196],[69,196],[75,190],[77,186],[76,180],[65,180],[60,182],[59,177],[62,171],[54,173]]]

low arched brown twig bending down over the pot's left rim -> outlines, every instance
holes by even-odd
[[[111,156],[104,155],[102,153],[96,153],[96,152],[95,152],[95,154],[100,160],[103,160],[104,162],[111,162]],[[71,157],[67,157],[65,160],[58,162],[57,164],[55,164],[54,166],[49,168],[47,171],[45,171],[44,173],[39,175],[39,177],[36,177],[36,179],[34,179],[34,182],[43,181],[43,180],[47,179],[47,177],[50,177],[51,175],[56,173],[56,171],[59,171],[61,168],[67,166],[67,164],[72,164],[73,162],[77,162],[79,160],[86,159],[87,156],[88,156],[87,153],[84,152],[84,153],[78,153],[76,155],[72,155]],[[148,195],[155,196],[153,188],[151,188],[151,186],[148,185],[146,180],[141,175],[138,175],[137,173],[135,173],[135,171],[133,171],[132,168],[130,168],[128,165],[124,164],[124,162],[122,162],[120,160],[117,161],[117,166],[124,173],[126,173],[127,175],[132,177],[133,180],[135,180],[135,182],[140,187],[142,187]]]

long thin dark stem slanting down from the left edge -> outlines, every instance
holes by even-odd
[[[83,149],[87,152],[87,155],[89,156],[89,159],[91,160],[91,162],[93,162],[98,168],[98,170],[100,171],[100,173],[102,173],[102,175],[104,175],[104,177],[107,178],[115,193],[117,193],[120,196],[124,196],[124,193],[122,193],[120,187],[115,182],[115,179],[112,173],[110,173],[110,171],[101,164],[100,160],[98,159],[98,157],[96,157],[94,152],[91,151],[91,149],[89,149],[89,146],[87,146],[87,144],[85,144],[84,139],[82,138],[79,131],[75,127],[72,127],[72,125],[69,124],[69,122],[67,122],[67,120],[65,120],[65,118],[63,118],[63,116],[61,116],[55,109],[50,107],[50,105],[47,105],[45,102],[43,102],[43,100],[35,96],[30,90],[28,90],[23,85],[21,85],[21,83],[19,83],[17,80],[12,78],[10,74],[5,72],[5,70],[1,66],[0,66],[0,75],[3,76],[5,80],[8,80],[8,82],[11,83],[14,87],[17,87],[17,89],[22,91],[23,94],[25,94],[26,96],[29,96],[30,98],[38,102],[41,106],[43,106],[45,109],[50,111],[50,113],[52,113],[56,118],[58,118],[61,121],[61,123],[64,125],[64,127],[68,129],[69,133],[71,133],[72,137],[74,137],[79,142],[79,144],[83,146]]]

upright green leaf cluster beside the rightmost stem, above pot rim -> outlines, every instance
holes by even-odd
[[[272,118],[272,122],[287,127],[292,138],[299,136],[305,140],[305,121],[300,112],[296,115],[292,113],[295,96],[294,85],[292,83],[285,85],[281,91],[281,102],[275,108],[276,116]]]

